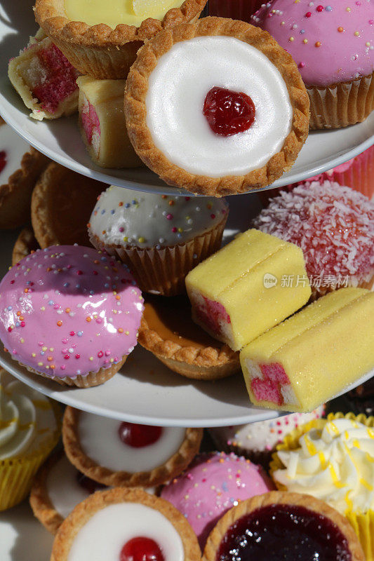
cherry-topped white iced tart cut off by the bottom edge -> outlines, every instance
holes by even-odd
[[[51,561],[198,561],[201,553],[185,517],[142,489],[97,492],[62,523]]]

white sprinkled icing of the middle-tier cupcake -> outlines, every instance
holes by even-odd
[[[161,248],[205,234],[228,210],[224,198],[167,196],[111,186],[100,195],[88,231],[105,245]]]

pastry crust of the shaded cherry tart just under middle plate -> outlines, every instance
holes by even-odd
[[[180,448],[165,464],[152,471],[128,473],[112,471],[96,464],[88,457],[79,441],[79,410],[67,407],[62,423],[62,440],[66,455],[71,463],[84,475],[108,487],[156,487],[175,478],[194,459],[203,438],[202,428],[186,428],[185,440]]]

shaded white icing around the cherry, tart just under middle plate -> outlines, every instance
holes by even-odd
[[[112,471],[152,471],[178,452],[185,440],[185,428],[165,427],[154,444],[136,448],[119,437],[121,421],[99,415],[79,414],[79,441],[84,453],[99,466]]]

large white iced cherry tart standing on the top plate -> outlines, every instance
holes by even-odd
[[[295,62],[269,34],[203,18],[140,49],[125,116],[136,153],[161,179],[224,196],[290,169],[307,138],[309,99]]]

